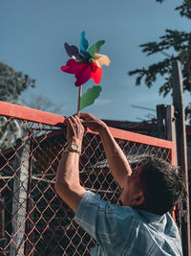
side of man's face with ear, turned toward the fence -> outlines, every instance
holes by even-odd
[[[120,194],[120,200],[123,206],[134,206],[135,200],[138,200],[141,194],[143,194],[143,186],[140,180],[140,174],[142,167],[138,166],[132,175],[126,176],[126,186],[122,188]]]

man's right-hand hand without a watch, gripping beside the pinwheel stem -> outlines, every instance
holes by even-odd
[[[96,131],[96,132],[100,132],[101,130],[107,128],[107,125],[103,121],[96,118],[92,114],[80,113],[79,117],[80,117],[82,125],[85,128],[90,128],[90,129],[92,129],[93,131]]]

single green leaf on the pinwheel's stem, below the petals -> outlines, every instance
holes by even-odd
[[[92,88],[88,89],[81,96],[79,110],[83,109],[84,107],[86,107],[88,105],[93,105],[96,98],[99,97],[101,90],[102,90],[102,88],[99,85],[95,85]]]

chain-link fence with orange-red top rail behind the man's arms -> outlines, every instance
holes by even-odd
[[[73,211],[54,192],[66,130],[27,121],[26,114],[25,120],[16,117],[0,116],[0,255],[90,255],[96,241],[74,222]],[[111,130],[133,167],[143,153],[173,161],[171,142]],[[117,183],[96,133],[84,136],[79,170],[86,189],[119,203]]]

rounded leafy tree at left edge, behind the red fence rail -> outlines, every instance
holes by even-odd
[[[35,86],[35,81],[22,72],[17,72],[11,66],[0,62],[0,101],[23,105],[21,93]],[[25,135],[18,120],[0,116],[0,149],[5,150],[15,144],[17,138]]]

